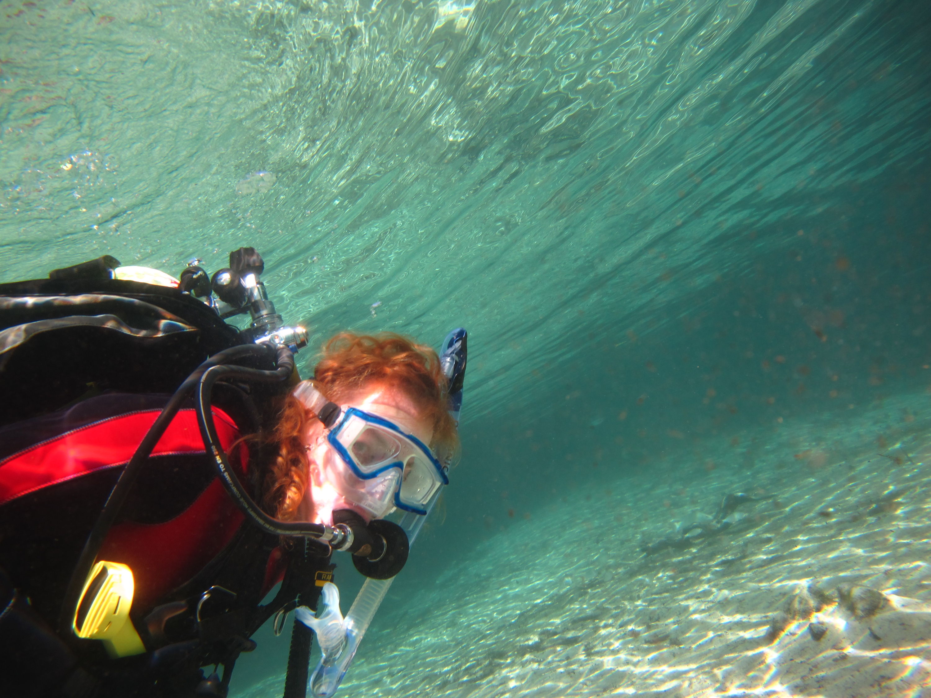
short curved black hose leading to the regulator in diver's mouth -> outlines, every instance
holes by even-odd
[[[195,409],[197,423],[200,425],[200,436],[204,439],[204,446],[216,465],[217,473],[223,487],[236,503],[236,506],[252,523],[264,530],[279,536],[297,536],[308,538],[310,552],[317,556],[329,556],[331,548],[327,544],[318,542],[327,533],[323,524],[304,521],[280,521],[269,517],[257,503],[250,497],[249,492],[239,482],[239,477],[233,470],[217,436],[217,427],[213,422],[213,412],[210,410],[210,393],[217,381],[242,380],[248,383],[278,383],[287,381],[291,371],[294,370],[294,357],[288,347],[279,347],[277,350],[277,369],[259,370],[246,369],[241,366],[214,366],[200,377],[197,383]]]

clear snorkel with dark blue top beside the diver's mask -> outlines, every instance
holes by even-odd
[[[466,330],[454,329],[447,335],[439,355],[440,366],[450,382],[450,414],[456,424],[459,423],[459,411],[462,408],[463,383],[466,377]],[[446,468],[449,463],[444,463]],[[442,488],[437,490],[427,503],[425,515],[405,512],[398,525],[407,534],[408,545],[412,545],[417,534],[424,527],[426,517],[439,500]],[[380,519],[371,522],[378,523]],[[387,522],[385,522],[387,523]],[[370,526],[371,526],[370,525]],[[353,556],[357,569],[358,557]],[[361,560],[360,560],[361,561]],[[364,565],[364,563],[362,563]],[[359,570],[365,573],[363,570]],[[378,607],[391,588],[394,576],[387,579],[375,579],[371,574],[362,584],[356,600],[345,618],[339,611],[339,591],[334,584],[328,583],[323,589],[323,610],[314,617],[310,611],[298,609],[295,615],[302,623],[317,632],[317,642],[322,651],[317,668],[309,681],[309,689],[317,698],[330,698],[339,688],[349,664],[356,656],[358,646],[369,629]]]

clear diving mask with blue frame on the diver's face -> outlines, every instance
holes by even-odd
[[[306,382],[295,388],[294,396],[318,415],[332,405]],[[331,447],[319,463],[322,475],[347,503],[373,518],[385,517],[395,507],[425,515],[440,486],[449,484],[446,471],[424,442],[384,417],[344,407],[321,421]]]

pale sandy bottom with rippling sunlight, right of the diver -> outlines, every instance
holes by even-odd
[[[931,698],[927,402],[570,490],[380,613],[338,695]],[[681,540],[735,492],[776,499]]]

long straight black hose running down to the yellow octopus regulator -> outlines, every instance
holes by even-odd
[[[129,492],[132,490],[136,478],[139,477],[142,471],[142,465],[145,464],[146,460],[148,460],[149,456],[152,454],[152,451],[155,449],[155,444],[158,443],[158,439],[165,434],[165,430],[178,413],[178,409],[181,409],[184,400],[209,369],[227,361],[240,360],[246,356],[260,356],[268,352],[268,347],[262,344],[250,343],[237,344],[236,346],[224,349],[222,352],[210,356],[184,380],[184,383],[178,387],[165,407],[162,408],[161,414],[158,415],[155,422],[149,427],[149,431],[146,432],[145,436],[142,438],[136,452],[132,454],[132,458],[129,459],[126,467],[123,468],[123,472],[116,480],[114,489],[110,490],[110,495],[107,497],[106,503],[103,504],[101,516],[97,518],[94,528],[90,530],[88,540],[84,544],[84,549],[77,559],[77,564],[74,565],[74,570],[71,573],[71,579],[68,581],[64,600],[61,604],[59,630],[63,635],[67,635],[71,631],[74,609],[77,607],[78,597],[80,597],[81,591],[84,589],[84,583],[88,579],[90,568],[93,567],[94,560],[97,558],[97,553],[101,549],[101,545],[107,533],[113,527],[120,510],[123,508],[123,504],[126,503]],[[293,359],[291,360],[290,367],[291,369],[294,367]]]

